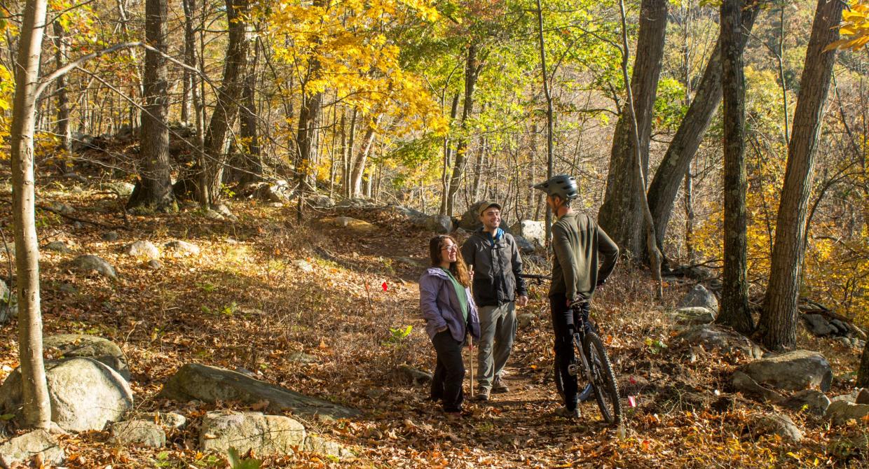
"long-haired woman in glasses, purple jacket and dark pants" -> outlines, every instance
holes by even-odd
[[[432,267],[420,277],[420,307],[426,332],[437,353],[431,400],[441,401],[444,412],[461,415],[465,365],[461,347],[467,336],[480,338],[480,319],[468,287],[471,278],[459,246],[452,236],[434,236],[428,243]]]

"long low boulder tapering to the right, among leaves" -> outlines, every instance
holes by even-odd
[[[227,400],[237,400],[242,404],[269,401],[269,406],[264,409],[266,412],[289,410],[305,417],[326,415],[342,419],[359,414],[355,409],[255,380],[226,368],[198,364],[179,368],[163,385],[160,394],[166,399],[181,402],[202,400],[210,404]]]

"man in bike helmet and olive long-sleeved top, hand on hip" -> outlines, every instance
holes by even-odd
[[[568,367],[574,361],[574,303],[588,314],[594,289],[607,281],[619,258],[619,247],[587,215],[574,212],[571,201],[579,196],[576,179],[556,175],[534,185],[546,193],[549,208],[558,218],[552,226],[552,283],[549,308],[555,335],[555,363],[564,383],[564,406],[555,414],[568,419],[580,416],[576,376]],[[600,263],[600,267],[599,267]]]

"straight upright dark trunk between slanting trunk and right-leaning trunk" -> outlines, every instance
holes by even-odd
[[[740,11],[743,0],[724,0],[720,13],[721,83],[724,101],[724,285],[716,320],[751,334],[746,279],[745,97]]]

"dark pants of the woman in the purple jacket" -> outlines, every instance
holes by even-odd
[[[441,400],[444,412],[461,411],[465,393],[461,389],[465,379],[465,364],[461,360],[461,342],[453,339],[448,330],[435,334],[432,339],[437,352],[437,366],[432,380],[432,400]]]

